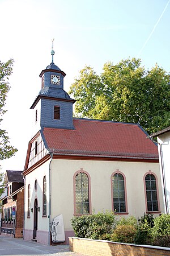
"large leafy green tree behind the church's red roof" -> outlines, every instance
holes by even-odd
[[[85,67],[70,87],[79,117],[139,123],[149,134],[170,125],[170,75],[140,59],[105,63],[103,73]]]

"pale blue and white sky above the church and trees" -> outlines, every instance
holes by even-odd
[[[170,0],[0,0],[0,60],[15,60],[1,129],[18,153],[1,171],[23,170],[32,138],[30,106],[41,89],[40,73],[51,62],[66,73],[69,86],[85,65],[139,57],[146,69],[156,63],[170,71]]]

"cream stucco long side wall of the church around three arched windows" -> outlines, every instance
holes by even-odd
[[[70,230],[74,214],[73,176],[83,168],[91,177],[91,202],[95,212],[112,209],[111,175],[117,169],[126,177],[129,215],[140,217],[146,212],[143,177],[151,170],[158,177],[160,211],[163,195],[158,163],[111,162],[91,160],[52,161],[52,218],[63,214],[65,230]]]

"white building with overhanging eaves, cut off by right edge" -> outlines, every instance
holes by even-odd
[[[157,137],[165,213],[170,213],[170,126],[151,135]]]

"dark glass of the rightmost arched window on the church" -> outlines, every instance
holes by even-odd
[[[158,211],[158,197],[156,189],[156,178],[153,174],[147,174],[145,177],[147,211]]]

